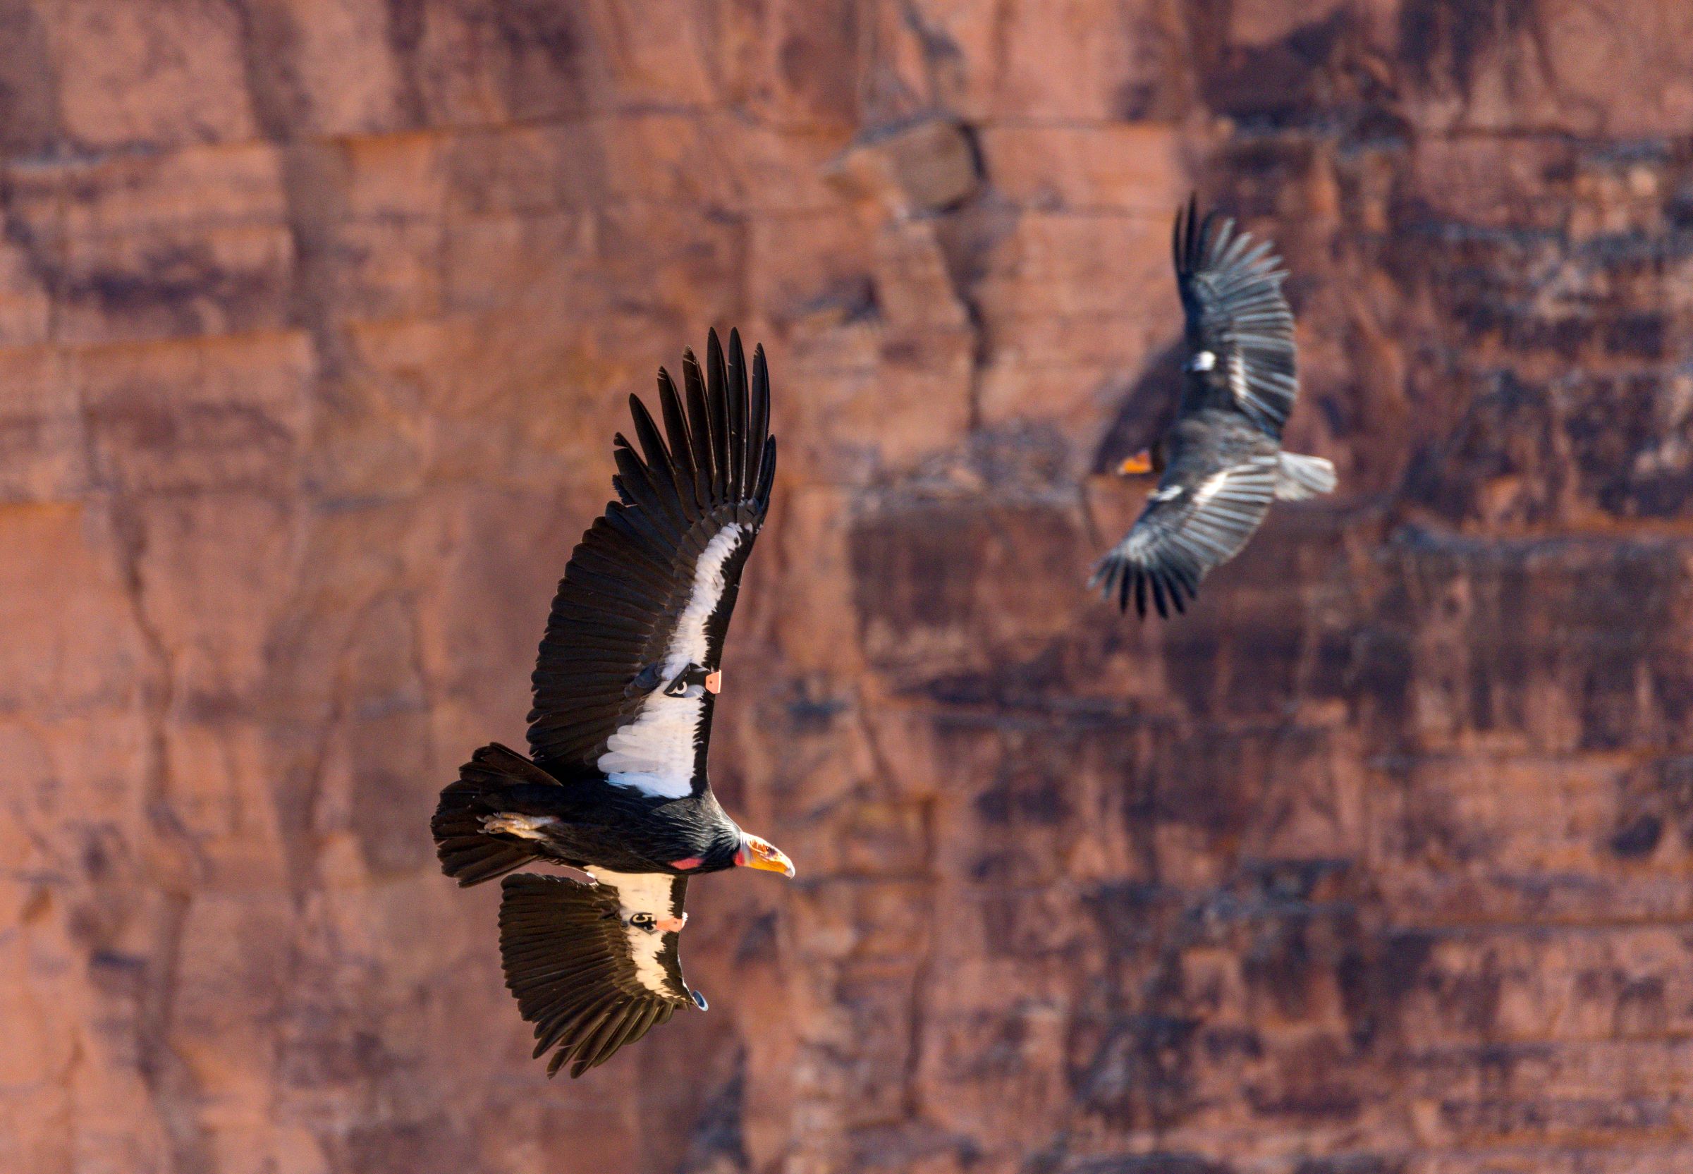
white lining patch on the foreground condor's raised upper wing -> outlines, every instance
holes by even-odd
[[[665,649],[659,688],[647,695],[633,722],[606,739],[606,752],[596,762],[606,781],[667,800],[692,793],[694,732],[704,708],[704,689],[691,684],[682,696],[667,696],[664,686],[689,664],[704,664],[706,622],[718,610],[726,588],[723,568],[745,535],[747,527],[731,522],[711,535],[694,562],[694,584]]]

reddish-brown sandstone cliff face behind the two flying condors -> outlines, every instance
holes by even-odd
[[[0,30],[0,1169],[1693,1167],[1693,7]],[[1194,186],[1343,491],[1141,625]],[[549,1086],[427,818],[713,324],[784,446],[714,779],[799,879]]]

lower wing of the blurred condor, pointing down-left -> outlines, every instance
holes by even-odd
[[[1104,588],[1106,598],[1116,595],[1124,612],[1133,593],[1141,617],[1148,588],[1158,615],[1168,617],[1170,605],[1185,612],[1182,596],[1194,598],[1199,581],[1239,554],[1263,522],[1275,474],[1275,456],[1251,456],[1195,485],[1165,476],[1128,537],[1099,561],[1094,584]]]

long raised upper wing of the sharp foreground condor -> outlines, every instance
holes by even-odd
[[[679,393],[659,371],[664,434],[637,396],[637,451],[618,434],[618,500],[582,535],[559,583],[535,664],[530,752],[543,767],[681,798],[704,789],[723,635],[775,478],[764,349],[750,381],[740,334],[725,359],[682,357]]]

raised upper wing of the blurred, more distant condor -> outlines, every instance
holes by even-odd
[[[1234,407],[1273,437],[1293,412],[1299,373],[1293,312],[1282,293],[1282,259],[1268,241],[1253,244],[1234,220],[1199,202],[1177,212],[1177,288],[1187,312],[1188,386],[1202,396],[1221,379]],[[1209,359],[1205,356],[1210,356]],[[1209,396],[1207,396],[1209,398]]]

